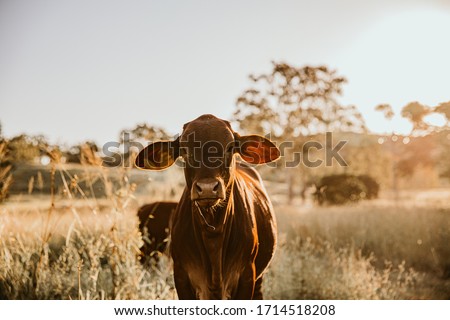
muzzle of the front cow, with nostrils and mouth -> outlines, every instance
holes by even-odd
[[[222,179],[206,178],[192,184],[191,200],[201,207],[212,207],[225,199],[225,186]]]

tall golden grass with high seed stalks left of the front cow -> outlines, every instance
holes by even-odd
[[[3,299],[164,299],[173,298],[170,264],[143,269],[139,260],[140,233],[130,207],[135,188],[122,172],[112,184],[107,169],[93,154],[85,161],[97,165],[97,176],[107,190],[108,205],[88,201],[77,178],[49,153],[51,195],[47,208],[20,212],[14,206],[0,210],[0,298]],[[64,184],[54,191],[55,176]],[[92,174],[92,170],[89,170]],[[67,178],[69,177],[69,179]],[[75,204],[74,191],[86,200]],[[68,199],[58,206],[58,199]]]

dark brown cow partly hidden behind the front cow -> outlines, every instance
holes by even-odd
[[[146,263],[151,258],[158,259],[167,246],[169,220],[177,207],[177,202],[154,202],[139,208],[139,230],[144,245],[141,249],[141,261]]]

